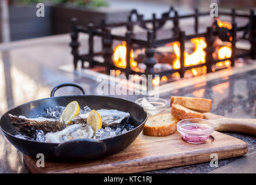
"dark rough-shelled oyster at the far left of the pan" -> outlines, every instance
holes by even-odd
[[[48,119],[45,117],[29,119],[25,116],[18,117],[13,116],[12,114],[8,115],[10,116],[10,121],[13,125],[26,132],[34,132],[36,129],[40,129],[43,132],[57,132],[67,127],[65,123],[56,119]]]

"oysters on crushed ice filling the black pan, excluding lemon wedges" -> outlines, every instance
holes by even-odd
[[[134,128],[130,124],[129,113],[115,109],[99,109],[97,113],[100,114],[103,127],[94,132],[92,126],[87,124],[87,117],[92,109],[85,106],[72,118],[71,124],[60,121],[64,109],[62,106],[45,108],[45,112],[38,113],[36,118],[9,114],[11,123],[20,128],[15,136],[38,142],[63,143],[72,139],[107,139]]]

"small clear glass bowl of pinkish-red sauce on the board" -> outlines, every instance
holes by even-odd
[[[188,143],[203,143],[214,131],[214,125],[209,120],[185,119],[177,123],[177,131]]]

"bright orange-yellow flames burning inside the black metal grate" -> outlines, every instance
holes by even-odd
[[[221,22],[222,27],[228,26],[226,22]],[[225,23],[225,24],[224,24]],[[231,25],[231,24],[229,24]],[[230,28],[230,27],[228,27]],[[232,27],[231,27],[232,28]],[[191,42],[195,46],[195,50],[193,51],[192,54],[188,54],[186,51],[184,53],[184,66],[192,66],[196,64],[203,64],[206,62],[206,52],[204,49],[207,47],[206,42],[204,38],[194,38],[191,39]],[[173,45],[173,50],[175,53],[175,60],[173,61],[173,68],[174,69],[179,69],[181,68],[180,64],[180,56],[181,56],[181,51],[180,51],[180,43],[179,42],[173,42],[171,43]],[[140,52],[140,50],[138,50]],[[136,51],[136,53],[138,54]],[[218,59],[224,59],[224,58],[229,58],[231,57],[231,47],[229,46],[222,46],[220,49],[218,49],[217,54],[218,54]],[[114,54],[113,54],[113,61],[116,66],[119,68],[126,68],[127,62],[126,62],[126,42],[123,42],[122,44],[119,44],[115,47],[114,49]],[[134,52],[131,50],[130,52],[130,66],[131,69],[134,71],[139,71],[137,62],[134,60]],[[224,61],[224,62],[218,62],[216,66],[229,66],[231,65],[231,62],[229,60]],[[192,68],[191,72],[193,73],[194,76],[204,74],[206,73],[206,66],[200,67],[200,68]],[[119,72],[120,73],[120,72]],[[139,76],[134,76],[134,80],[138,79]],[[179,78],[180,75],[179,73],[174,73],[173,77]],[[160,83],[166,83],[168,82],[168,78],[166,76],[160,77],[155,77],[152,81],[154,86],[158,86]]]

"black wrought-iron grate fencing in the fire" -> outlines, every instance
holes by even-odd
[[[72,33],[71,33],[71,43],[72,47],[72,55],[74,56],[74,68],[76,69],[78,66],[78,62],[82,62],[82,68],[85,68],[84,62],[89,62],[88,68],[93,68],[96,65],[104,66],[105,72],[109,73],[111,69],[118,69],[121,72],[125,72],[126,75],[137,74],[137,75],[159,75],[160,77],[165,75],[171,75],[173,73],[178,72],[180,77],[184,77],[184,73],[186,70],[192,68],[198,68],[202,66],[206,66],[207,73],[212,72],[212,66],[217,64],[217,62],[222,62],[229,60],[231,62],[231,66],[235,65],[236,58],[244,58],[250,57],[252,59],[256,58],[256,16],[254,11],[251,10],[247,13],[237,13],[235,9],[231,9],[229,12],[220,12],[220,16],[230,16],[232,20],[232,28],[220,27],[217,24],[217,20],[214,19],[213,25],[211,27],[207,27],[206,32],[199,33],[199,17],[210,16],[209,12],[199,12],[198,9],[195,9],[195,12],[192,14],[186,14],[180,16],[173,7],[170,8],[169,12],[165,12],[162,14],[161,18],[156,18],[156,14],[152,14],[151,20],[144,20],[142,14],[138,14],[137,10],[132,10],[130,16],[127,18],[127,22],[125,23],[115,23],[115,24],[105,24],[104,20],[101,21],[101,25],[93,25],[88,24],[87,26],[77,25],[76,18],[72,18]],[[136,20],[133,18],[136,17]],[[180,28],[180,20],[185,18],[194,18],[195,24],[193,25],[195,34],[186,35],[184,31]],[[243,17],[247,18],[248,21],[243,26],[237,26],[236,18]],[[166,21],[173,21],[173,28],[171,31],[173,32],[173,36],[167,39],[158,39],[157,33],[160,29],[163,28]],[[137,39],[134,37],[134,26],[138,25],[147,31],[147,39]],[[115,34],[111,34],[111,29],[115,27],[126,27],[125,36],[119,36]],[[79,53],[79,33],[85,33],[89,35],[89,53],[80,54]],[[240,38],[237,35],[242,35]],[[100,37],[103,42],[103,50],[100,52],[94,52],[94,37]],[[229,58],[224,59],[216,59],[213,57],[213,53],[215,51],[214,40],[218,36],[224,42],[231,43],[232,54]],[[185,42],[187,40],[191,40],[193,38],[204,38],[207,44],[205,60],[204,64],[196,64],[191,66],[184,65],[184,53],[185,53]],[[146,66],[144,72],[133,71],[131,66],[126,65],[125,68],[119,68],[113,63],[113,43],[115,40],[120,42],[126,42],[126,53],[130,53],[133,49],[145,49],[144,57],[142,57],[141,61]],[[246,50],[243,53],[236,52],[236,42],[237,40],[247,40],[250,42],[251,47],[250,50]],[[178,69],[169,69],[166,71],[158,71],[156,72],[153,66],[157,63],[155,55],[155,48],[164,46],[168,43],[178,42],[180,43],[180,68]],[[101,56],[104,61],[98,61],[96,58]],[[126,54],[126,61],[130,61],[130,55]]]

